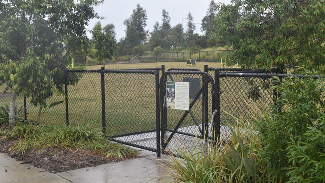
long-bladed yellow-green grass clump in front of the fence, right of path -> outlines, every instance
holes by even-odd
[[[226,144],[203,142],[201,152],[194,155],[179,150],[182,158],[171,157],[170,162],[164,162],[172,169],[167,176],[174,182],[271,182],[258,163],[261,142],[254,125],[236,122]]]

